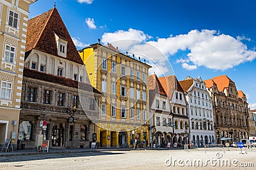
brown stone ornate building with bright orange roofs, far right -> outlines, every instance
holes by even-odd
[[[248,103],[243,92],[237,91],[234,81],[226,75],[205,80],[205,83],[212,98],[216,143],[221,143],[221,138],[235,142],[248,139]]]

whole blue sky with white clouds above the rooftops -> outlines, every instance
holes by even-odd
[[[188,75],[207,80],[227,74],[256,108],[255,1],[38,0],[29,18],[54,2],[78,49],[100,38],[147,55],[151,73],[159,76],[174,71],[178,80]]]

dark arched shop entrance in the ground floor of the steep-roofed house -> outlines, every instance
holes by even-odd
[[[64,145],[64,128],[62,124],[54,125],[52,128],[52,146]]]

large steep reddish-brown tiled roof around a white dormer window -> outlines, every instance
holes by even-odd
[[[68,42],[67,58],[58,55],[55,34]],[[83,64],[83,60],[77,52],[76,46],[68,33],[67,27],[55,7],[28,20],[25,57],[28,57],[29,53],[33,49]]]

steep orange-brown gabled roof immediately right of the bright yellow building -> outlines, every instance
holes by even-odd
[[[156,74],[148,76],[148,90],[155,90],[157,93],[167,96]]]

